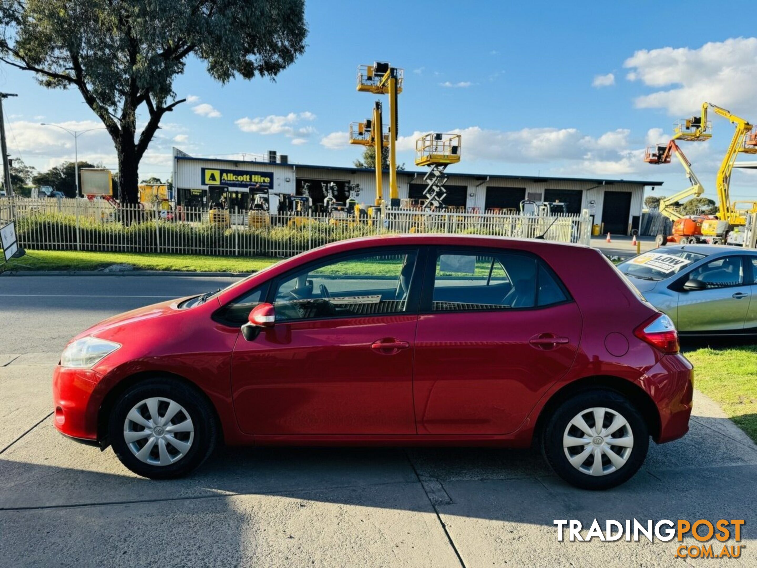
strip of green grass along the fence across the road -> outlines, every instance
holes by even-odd
[[[280,260],[269,257],[210,257],[195,254],[129,252],[26,251],[26,253],[26,256],[11,261],[11,270],[98,270],[111,264],[131,264],[135,270],[251,273],[269,267]]]

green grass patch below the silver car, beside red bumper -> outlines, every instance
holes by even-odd
[[[694,386],[757,442],[757,345],[702,348],[686,353],[694,365]]]

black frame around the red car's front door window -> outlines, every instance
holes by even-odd
[[[268,281],[268,290],[266,292],[266,302],[269,304],[273,304],[274,300],[276,299],[276,291],[279,289],[279,286],[282,282],[285,282],[286,279],[291,279],[292,276],[294,276],[297,273],[301,273],[304,270],[307,270],[308,272],[312,270],[317,270],[319,267],[328,266],[329,264],[334,264],[335,262],[341,262],[349,259],[350,257],[357,257],[357,256],[363,256],[365,254],[391,254],[392,252],[410,252],[410,251],[416,251],[416,267],[413,270],[413,276],[410,279],[410,294],[407,296],[407,301],[405,302],[405,311],[401,312],[403,315],[414,315],[418,314],[419,311],[419,297],[421,295],[421,287],[423,283],[423,270],[420,270],[421,267],[425,264],[425,246],[419,246],[419,245],[395,245],[395,246],[389,246],[389,247],[369,247],[369,248],[359,248],[354,251],[345,251],[345,252],[338,252],[335,254],[331,254],[328,257],[320,258],[317,261],[310,261],[307,264],[301,264],[299,267],[292,268],[291,270],[288,270],[287,272],[283,274],[279,274],[279,276],[276,276],[273,279],[270,279]],[[301,323],[301,322],[310,322],[310,321],[322,321],[322,320],[344,320],[344,319],[350,319],[354,317],[386,317],[388,315],[397,315],[397,314],[363,314],[360,316],[355,315],[344,315],[344,316],[329,316],[329,317],[304,317],[299,318],[296,320],[285,320],[281,323]]]

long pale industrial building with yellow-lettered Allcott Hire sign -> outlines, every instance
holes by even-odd
[[[400,199],[422,199],[426,185],[425,170],[397,172]],[[449,206],[466,211],[519,209],[523,199],[560,201],[569,213],[584,209],[603,233],[627,235],[640,223],[643,194],[646,186],[662,182],[573,178],[555,176],[517,176],[484,173],[448,172],[444,186]],[[173,186],[177,204],[207,206],[225,195],[229,208],[249,208],[250,191],[268,189],[271,193],[304,195],[306,184],[335,183],[340,189],[347,184],[360,184],[360,203],[375,201],[375,173],[356,167],[290,164],[286,156],[269,152],[269,161],[237,161],[220,158],[195,158],[173,148]],[[389,195],[389,176],[383,176],[383,194]]]

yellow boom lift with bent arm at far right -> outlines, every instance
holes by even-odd
[[[731,202],[729,193],[731,187],[731,172],[734,162],[740,152],[745,154],[757,154],[757,132],[755,127],[741,117],[732,114],[718,105],[702,103],[702,113],[699,117],[691,117],[681,121],[675,129],[674,139],[701,141],[712,136],[712,124],[707,120],[709,109],[721,117],[727,118],[736,126],[734,136],[725,152],[718,174],[715,177],[715,186],[718,189],[718,219],[708,219],[702,222],[702,235],[707,242],[720,244],[727,242],[730,245],[743,244],[743,226],[746,224],[746,214],[757,212],[757,201],[734,201]]]

